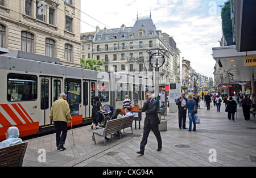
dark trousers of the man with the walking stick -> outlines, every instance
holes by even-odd
[[[54,126],[56,131],[56,146],[65,145],[68,133],[68,123],[64,121],[55,121]]]

